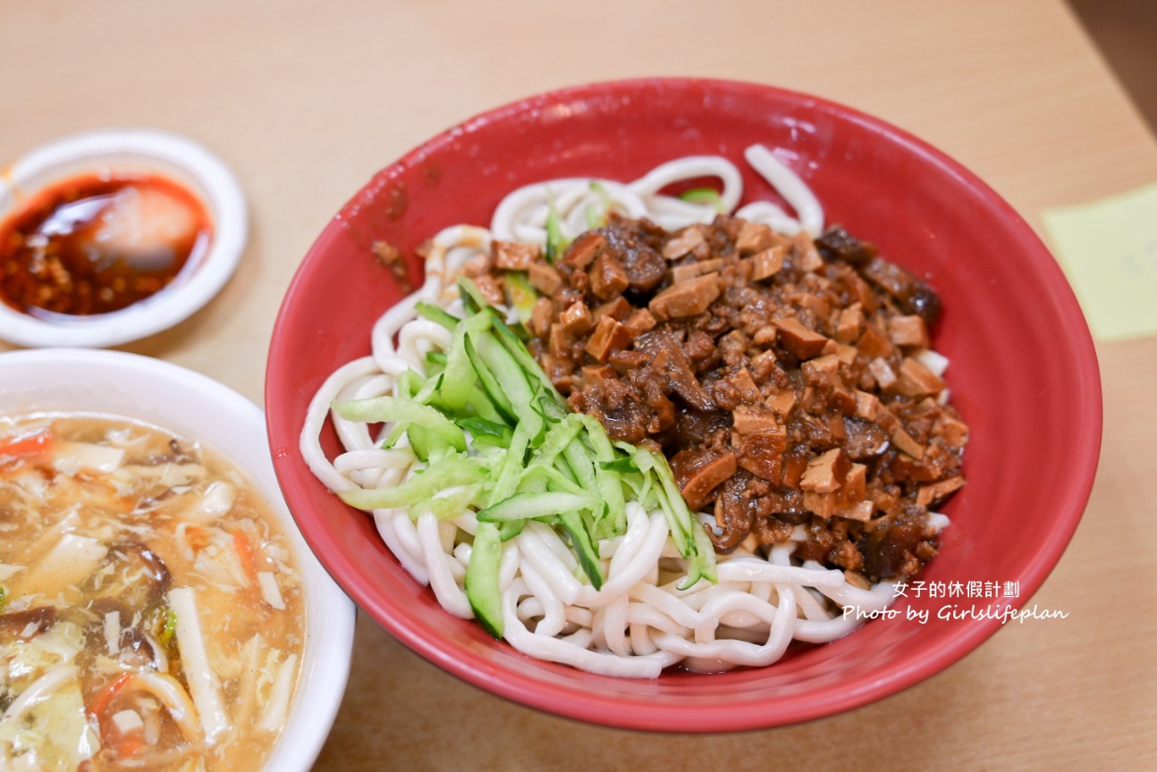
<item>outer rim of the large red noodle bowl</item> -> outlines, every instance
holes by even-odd
[[[828,114],[838,116],[841,120],[860,124],[885,138],[887,141],[902,146],[906,150],[921,157],[927,163],[939,166],[952,177],[956,177],[961,184],[979,194],[1001,215],[1008,218],[1009,223],[1016,229],[1018,247],[1034,255],[1048,291],[1053,294],[1056,304],[1063,311],[1061,321],[1064,325],[1064,329],[1057,331],[1057,340],[1068,343],[1069,355],[1082,365],[1077,369],[1079,378],[1077,391],[1079,391],[1084,399],[1084,402],[1078,406],[1078,415],[1082,416],[1083,422],[1081,430],[1075,433],[1074,443],[1081,445],[1085,458],[1090,459],[1088,466],[1076,470],[1069,477],[1068,500],[1073,503],[1073,506],[1067,512],[1057,515],[1055,526],[1049,532],[1048,537],[1038,544],[1031,561],[1026,562],[1024,573],[1019,578],[1022,588],[1019,596],[1011,599],[1011,602],[1007,603],[1010,608],[1023,607],[1060,561],[1076,532],[1091,492],[1097,470],[1103,428],[1101,392],[1096,349],[1071,288],[1052,254],[1032,228],[992,187],[941,150],[884,120],[856,109],[799,91],[722,79],[626,79],[562,88],[517,99],[481,112],[414,147],[399,159],[378,171],[367,187],[381,180],[389,179],[401,170],[419,163],[439,148],[460,140],[463,133],[470,133],[479,127],[501,121],[524,111],[543,109],[558,103],[596,99],[605,97],[609,92],[632,92],[639,89],[655,88],[699,88],[705,90],[723,90],[730,94],[758,92],[773,95],[778,99],[793,104],[805,104],[811,109],[818,109]],[[364,191],[366,188],[362,190]],[[361,192],[359,191],[349,200],[342,211],[348,207],[358,206]],[[339,238],[342,228],[341,218],[341,214],[339,213],[331,220],[316,243],[310,247],[289,284],[274,324],[265,385],[265,401],[266,406],[268,406],[266,411],[267,429],[272,447],[296,448],[297,446],[296,435],[292,431],[286,431],[288,428],[279,425],[275,418],[277,409],[282,402],[278,389],[278,378],[274,377],[281,372],[280,362],[278,361],[281,349],[278,342],[283,340],[281,333],[283,327],[287,326],[288,307],[295,295],[304,291],[302,289],[304,283],[303,276],[307,273],[307,266],[311,261],[311,258],[318,253],[324,253],[330,243]],[[293,510],[294,492],[299,483],[292,478],[292,475],[283,475],[280,465],[278,472],[282,490],[289,500],[290,510]],[[404,624],[398,624],[390,614],[389,604],[383,603],[382,599],[370,592],[369,587],[363,586],[363,577],[359,576],[349,563],[341,558],[338,543],[327,533],[326,528],[323,527],[323,524],[309,519],[299,519],[299,525],[307,542],[317,552],[318,559],[351,597],[390,634],[423,659],[484,691],[515,703],[565,718],[609,727],[655,732],[722,733],[783,726],[832,715],[889,697],[939,673],[977,648],[1002,626],[1002,622],[998,618],[972,621],[966,625],[961,625],[959,634],[951,638],[946,645],[929,651],[920,658],[901,660],[894,667],[890,667],[886,670],[874,670],[871,674],[865,674],[864,677],[848,683],[846,689],[825,690],[817,695],[808,695],[793,699],[789,703],[775,702],[774,704],[761,705],[758,708],[753,708],[751,704],[744,704],[742,713],[721,707],[713,711],[700,711],[692,717],[687,715],[688,711],[686,706],[677,704],[675,700],[668,703],[631,704],[629,711],[607,711],[607,698],[597,693],[597,690],[566,690],[565,693],[562,690],[557,689],[544,691],[541,684],[531,676],[514,671],[494,671],[493,667],[476,667],[472,665],[473,658],[469,653],[457,652],[457,655],[451,655],[443,646],[423,638],[418,631],[408,629]]]

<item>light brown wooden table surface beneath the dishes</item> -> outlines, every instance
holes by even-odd
[[[121,347],[261,401],[280,299],[326,221],[378,168],[491,106],[587,81],[779,84],[894,123],[1034,227],[1045,207],[1157,180],[1157,146],[1060,0],[6,0],[0,159],[96,127],[189,134],[235,169],[251,239],[224,291]],[[0,344],[0,350],[10,347]],[[661,736],[486,695],[359,621],[317,770],[1157,769],[1157,339],[1098,343],[1100,470],[1084,520],[1011,623],[944,673],[803,726]]]

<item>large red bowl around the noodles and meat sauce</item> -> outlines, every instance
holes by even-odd
[[[951,359],[946,380],[971,425],[968,484],[946,507],[952,525],[920,577],[926,592],[909,589],[894,618],[794,648],[767,668],[655,681],[532,660],[442,611],[386,550],[371,519],[333,497],[297,452],[315,391],[336,368],[369,352],[373,321],[401,297],[370,243],[400,247],[418,275],[414,248],[423,239],[454,223],[487,224],[519,185],[580,175],[628,180],[691,154],[723,155],[746,169],[743,149],[757,142],[796,158],[828,222],[926,276],[943,300],[935,346]],[[774,198],[750,171],[744,183],[746,200]],[[286,295],[265,401],[289,507],[320,562],[370,617],[495,695],[595,723],[664,732],[815,719],[959,660],[1023,607],[1060,559],[1088,502],[1101,430],[1096,355],[1076,299],[1041,242],[992,188],[855,110],[765,86],[685,79],[524,99],[455,126],[375,175],[322,232]],[[332,431],[324,445],[336,451]],[[944,596],[929,595],[936,589]]]

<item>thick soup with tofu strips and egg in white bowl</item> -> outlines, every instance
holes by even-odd
[[[261,767],[304,596],[241,472],[125,418],[0,418],[0,769]]]

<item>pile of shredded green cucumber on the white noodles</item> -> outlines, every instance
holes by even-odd
[[[547,254],[551,253],[550,244]],[[466,597],[486,630],[501,638],[499,567],[503,541],[529,521],[560,529],[583,576],[604,582],[598,541],[626,533],[626,503],[661,509],[690,587],[715,580],[714,550],[679,492],[666,460],[612,443],[591,416],[572,414],[551,379],[469,279],[459,279],[467,317],[419,303],[418,313],[451,331],[449,348],[427,356],[425,376],[404,373],[398,396],[334,402],[349,421],[390,424],[386,446],[401,436],[423,468],[399,485],[341,491],[364,509],[408,507],[452,518],[478,513],[466,569]]]

